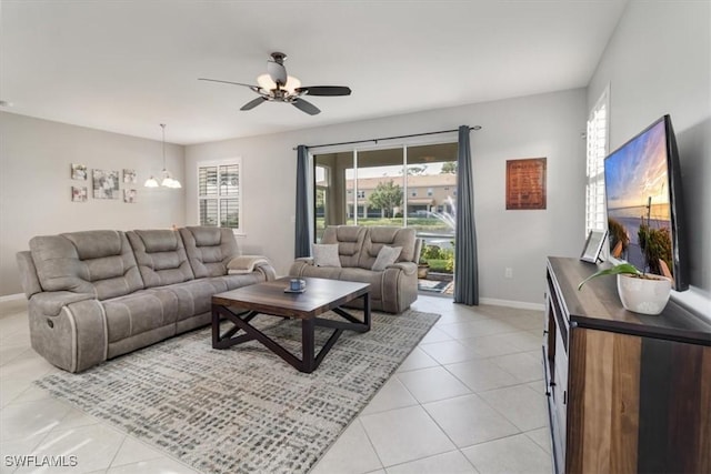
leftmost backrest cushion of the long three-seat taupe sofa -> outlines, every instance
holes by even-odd
[[[123,232],[86,231],[30,240],[32,261],[44,291],[90,293],[99,300],[143,289]]]

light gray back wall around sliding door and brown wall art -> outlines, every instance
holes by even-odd
[[[242,249],[268,255],[278,272],[287,274],[293,261],[297,144],[479,124],[483,129],[471,132],[471,148],[480,296],[542,304],[545,256],[578,256],[584,243],[584,121],[585,91],[579,89],[190,145],[186,148],[186,219],[190,224],[198,222],[196,163],[241,157],[246,231],[240,240]],[[457,134],[452,133],[450,140],[455,141]],[[507,211],[505,161],[539,157],[548,159],[548,209]],[[503,278],[507,266],[513,269],[511,280]]]

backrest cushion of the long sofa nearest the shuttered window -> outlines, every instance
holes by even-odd
[[[226,275],[227,264],[240,254],[231,229],[191,226],[180,235],[197,279]]]

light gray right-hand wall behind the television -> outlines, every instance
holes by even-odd
[[[690,292],[673,297],[711,317],[711,2],[631,1],[588,88],[610,84],[610,150],[665,113],[679,144]]]

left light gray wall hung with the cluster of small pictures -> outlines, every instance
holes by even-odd
[[[156,134],[160,128],[156,124]],[[168,169],[181,181],[183,148],[166,145]],[[89,198],[71,202],[70,163],[133,169],[137,202]],[[0,112],[0,296],[20,293],[16,252],[34,235],[93,229],[157,229],[184,224],[184,191],[143,188],[163,168],[161,142]],[[122,174],[121,174],[122,178]],[[124,184],[120,184],[121,189]]]

